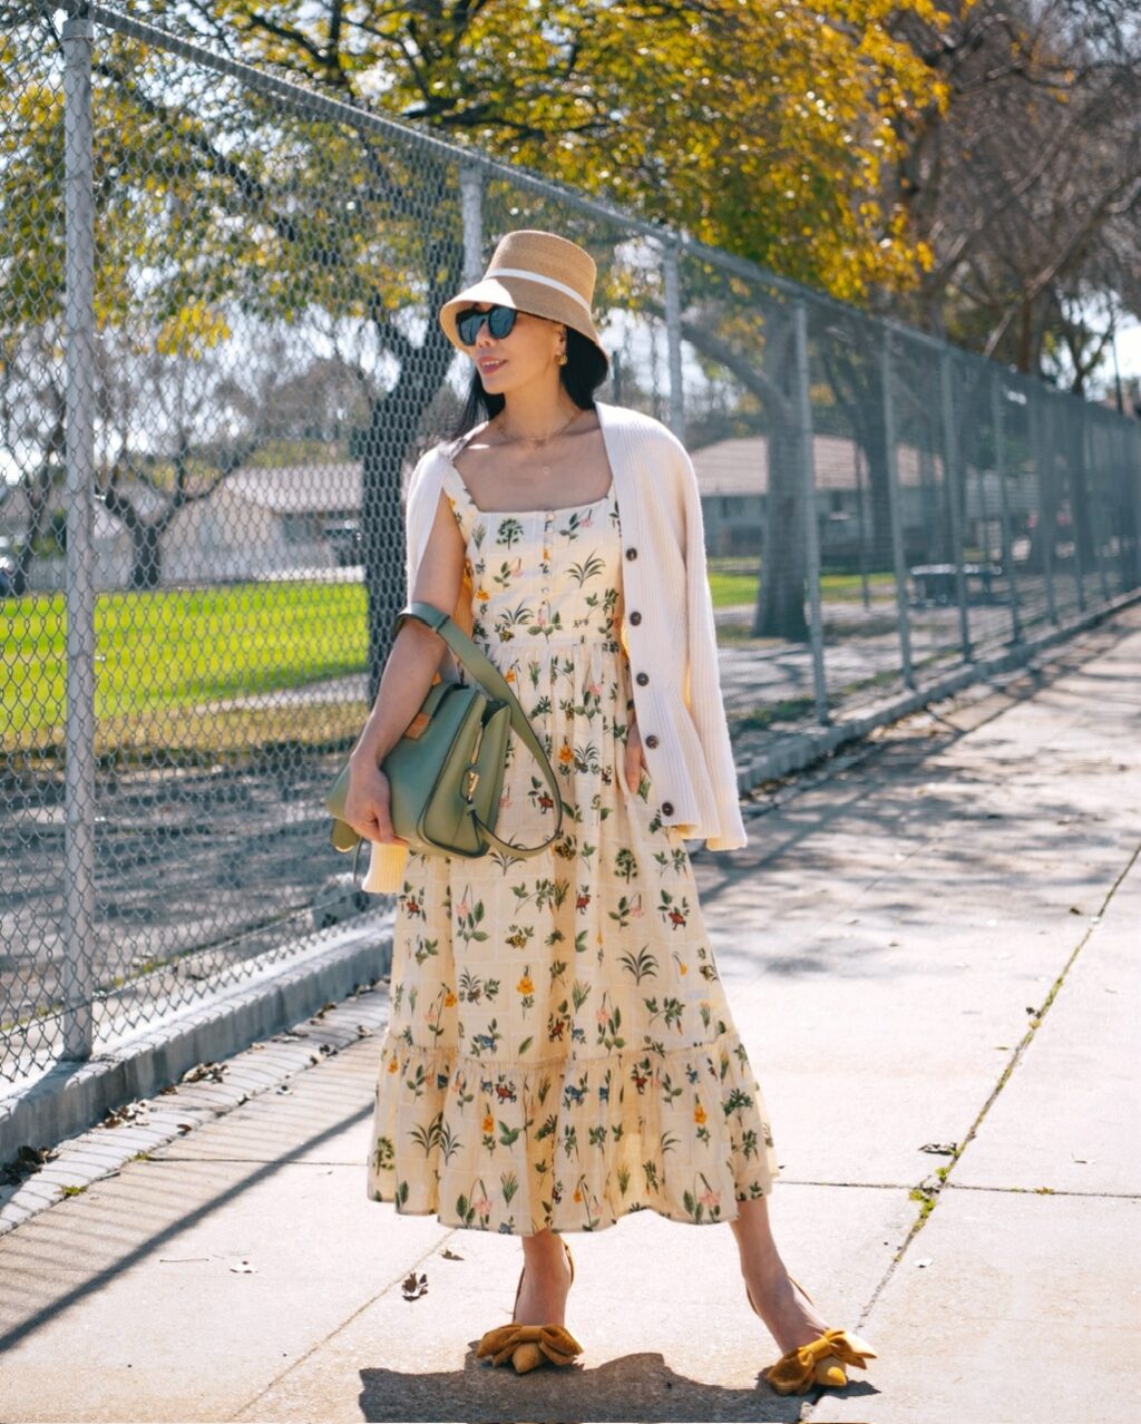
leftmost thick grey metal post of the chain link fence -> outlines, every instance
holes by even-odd
[[[63,1057],[90,1058],[95,924],[94,266],[91,43],[70,19],[64,50],[67,343],[67,726],[64,732]]]

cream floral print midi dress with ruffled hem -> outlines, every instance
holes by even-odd
[[[509,1235],[600,1230],[652,1208],[731,1220],[778,1175],[681,833],[627,787],[614,488],[484,513],[454,466],[473,641],[503,672],[563,797],[533,857],[409,853],[368,1165],[400,1215]],[[516,733],[497,830],[546,840],[554,805]]]

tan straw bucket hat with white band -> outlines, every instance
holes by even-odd
[[[577,242],[533,228],[509,232],[500,239],[480,281],[440,308],[440,326],[457,350],[470,355],[471,349],[463,345],[456,330],[456,318],[476,302],[493,302],[564,322],[607,356],[590,316],[595,273],[594,258]]]

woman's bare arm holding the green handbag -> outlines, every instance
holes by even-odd
[[[413,601],[433,604],[450,612],[463,582],[463,557],[464,543],[456,515],[447,496],[440,494],[432,533],[416,572]],[[345,820],[368,840],[397,840],[389,815],[387,778],[380,770],[380,762],[419,712],[446,648],[437,632],[415,618],[406,619],[393,639],[376,702],[349,756]]]

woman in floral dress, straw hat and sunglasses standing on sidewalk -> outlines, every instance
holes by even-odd
[[[440,322],[476,366],[459,439],[416,466],[409,597],[491,656],[560,780],[563,834],[534,859],[452,860],[396,842],[377,769],[450,654],[407,621],[350,759],[365,887],[397,896],[369,1195],[523,1239],[513,1323],[479,1356],[566,1364],[563,1233],[651,1208],[729,1222],[745,1287],[786,1351],[781,1393],[842,1384],[870,1350],[788,1277],[778,1175],[685,837],[746,843],[717,672],[692,464],[657,420],[595,402],[595,266],[511,232]],[[554,806],[511,740],[500,833],[547,840]]]

